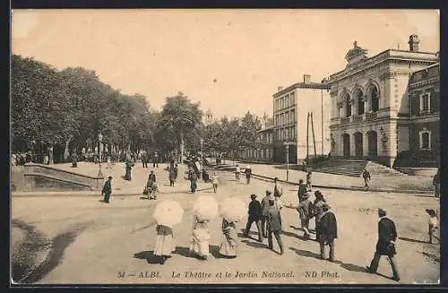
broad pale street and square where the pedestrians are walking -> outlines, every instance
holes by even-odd
[[[284,255],[268,250],[267,240],[260,244],[254,239],[240,237],[236,259],[217,258],[222,237],[221,219],[217,217],[210,224],[213,256],[206,262],[199,261],[188,254],[194,198],[208,194],[220,202],[228,196],[237,196],[248,203],[250,194],[258,194],[261,200],[272,184],[256,179],[251,185],[237,184],[231,173],[220,172],[218,194],[212,193],[211,184],[201,182],[200,192],[193,195],[188,193],[189,182],[182,178],[182,168],[177,186],[170,187],[164,167],[160,164],[159,169],[156,168],[161,191],[158,201],[144,200],[142,195],[113,194],[110,204],[100,203],[98,196],[13,197],[13,220],[35,228],[54,243],[47,260],[30,280],[38,283],[396,283],[387,278],[392,276],[392,271],[385,259],[378,269],[381,275],[365,270],[375,251],[378,207],[387,210],[397,225],[401,283],[434,283],[439,279],[439,245],[426,243],[425,211],[428,208],[438,210],[439,202],[433,197],[411,194],[322,189],[338,220],[336,263],[317,259],[319,245],[303,239],[303,232],[297,228],[297,211],[288,207],[281,211]],[[92,172],[95,172],[94,167]],[[105,176],[107,172],[103,168]],[[124,168],[113,172],[116,172],[113,175],[115,190],[130,188],[127,184],[142,192],[148,171],[143,171],[140,165],[134,168],[131,182],[119,178]],[[295,187],[285,185],[284,192],[283,203],[296,205]],[[165,265],[159,265],[151,259],[156,237],[152,211],[164,198],[179,201],[185,215],[183,222],[174,227],[177,251]],[[246,222],[239,223],[238,232],[245,225]],[[252,231],[255,229],[253,227]],[[274,249],[278,250],[275,241]],[[185,271],[192,274],[185,276]],[[263,271],[266,271],[264,275]],[[285,276],[275,277],[276,272]]]

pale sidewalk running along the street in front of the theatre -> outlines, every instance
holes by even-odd
[[[239,165],[243,169],[247,164],[239,161],[234,163],[232,160],[228,160],[228,164],[220,166],[234,170],[234,165]],[[306,172],[292,169],[289,169],[289,180],[287,181],[287,170],[284,165],[250,164],[250,167],[254,177],[268,180],[278,177],[280,182],[293,185],[297,185],[299,179],[303,179],[306,182]],[[369,189],[372,192],[434,194],[432,179],[429,177],[390,177],[383,174],[373,174],[372,177]],[[313,186],[317,188],[366,191],[362,177],[313,172],[312,182]]]

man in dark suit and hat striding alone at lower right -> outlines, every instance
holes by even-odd
[[[392,279],[399,281],[400,274],[394,256],[397,254],[395,249],[397,230],[395,228],[395,223],[389,218],[386,218],[386,214],[387,212],[383,209],[378,209],[378,217],[380,218],[378,222],[378,241],[376,243],[374,259],[366,269],[371,273],[375,273],[378,269],[378,263],[380,262],[381,256],[386,255],[391,263],[393,273]]]

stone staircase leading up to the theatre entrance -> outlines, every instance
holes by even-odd
[[[406,176],[395,169],[387,168],[372,161],[360,159],[331,159],[315,164],[313,166],[313,172],[359,177],[364,168],[366,168],[372,176],[375,174]]]

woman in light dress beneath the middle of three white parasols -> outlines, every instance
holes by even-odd
[[[197,215],[194,215],[190,251],[197,254],[201,260],[207,260],[210,254],[210,238],[208,220],[199,219]]]

